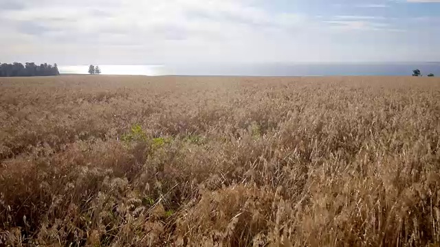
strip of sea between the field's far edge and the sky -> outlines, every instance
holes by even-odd
[[[88,65],[58,65],[62,74],[85,74]],[[254,64],[151,64],[100,65],[104,75],[237,75],[237,76],[333,76],[422,75],[440,76],[440,62],[387,63],[254,63]]]

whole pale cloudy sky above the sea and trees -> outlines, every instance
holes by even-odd
[[[0,60],[440,60],[440,0],[0,0]]]

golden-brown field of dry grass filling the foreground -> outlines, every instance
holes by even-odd
[[[0,246],[439,246],[440,80],[0,79]]]

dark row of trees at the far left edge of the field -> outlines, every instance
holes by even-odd
[[[48,76],[60,75],[57,64],[40,64],[34,62],[26,62],[25,65],[20,62],[13,62],[12,64],[0,62],[0,77],[14,77],[14,76]]]

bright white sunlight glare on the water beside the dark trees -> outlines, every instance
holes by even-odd
[[[166,75],[163,65],[100,65],[102,75]],[[87,74],[88,65],[60,66],[60,73]]]

